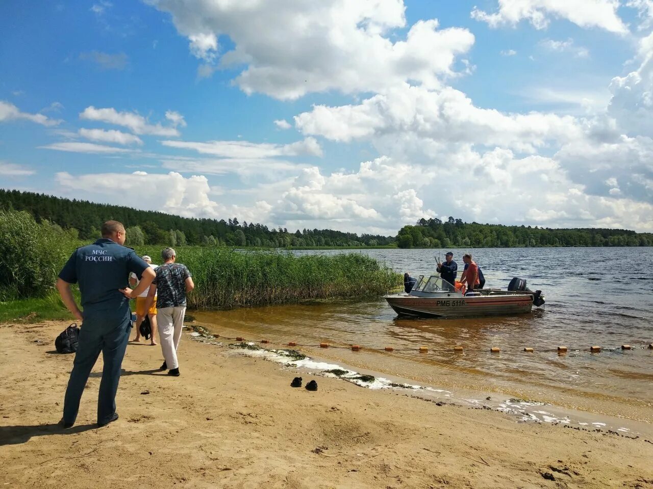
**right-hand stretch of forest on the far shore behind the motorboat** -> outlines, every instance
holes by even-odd
[[[599,228],[549,229],[420,219],[396,237],[400,248],[512,248],[534,246],[653,246],[652,233]]]

